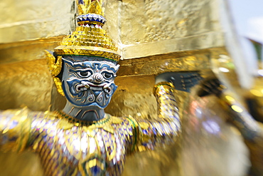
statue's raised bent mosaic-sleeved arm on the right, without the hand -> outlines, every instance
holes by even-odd
[[[137,145],[139,151],[174,143],[181,134],[181,118],[173,95],[174,86],[169,78],[168,74],[156,77],[154,95],[158,106],[158,117],[136,120],[141,130]]]

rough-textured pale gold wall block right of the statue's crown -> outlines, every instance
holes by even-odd
[[[218,0],[122,1],[124,58],[224,46],[218,5]]]

